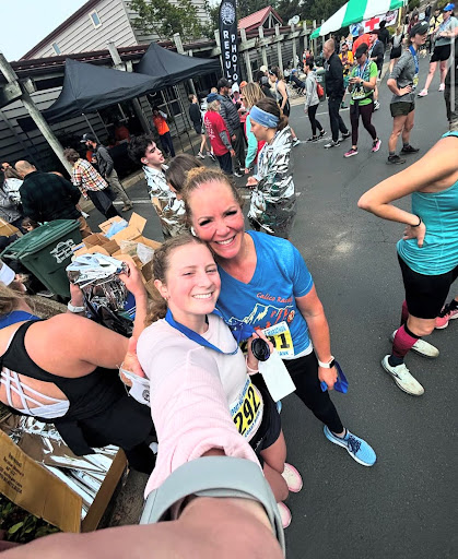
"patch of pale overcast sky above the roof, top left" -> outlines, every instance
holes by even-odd
[[[19,60],[86,0],[0,0],[0,50]]]

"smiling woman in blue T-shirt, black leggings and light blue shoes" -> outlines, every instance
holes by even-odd
[[[320,381],[333,389],[337,369],[325,311],[300,252],[285,239],[245,233],[240,194],[219,171],[191,170],[183,198],[193,233],[208,242],[218,262],[218,309],[225,320],[255,329],[278,324],[275,347],[283,346],[296,394],[325,424],[331,442],[372,466],[375,452],[343,427],[328,391],[321,390]],[[261,384],[258,377],[254,381]]]

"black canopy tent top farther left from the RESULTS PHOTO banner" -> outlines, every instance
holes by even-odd
[[[164,85],[162,78],[122,72],[67,58],[62,91],[43,115],[48,122],[59,122],[158,91]]]

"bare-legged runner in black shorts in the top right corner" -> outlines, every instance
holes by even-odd
[[[439,92],[445,91],[445,76],[447,75],[447,61],[450,58],[451,44],[458,34],[458,20],[454,16],[455,4],[447,4],[444,8],[444,19],[439,26],[434,29],[434,51],[430,62],[430,73],[426,78],[424,88],[419,93],[419,97],[426,97],[427,90],[436,72],[437,62],[441,66],[441,85]]]

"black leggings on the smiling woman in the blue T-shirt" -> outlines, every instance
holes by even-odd
[[[296,385],[296,394],[313,412],[315,417],[329,427],[332,432],[343,431],[343,425],[329,392],[322,392],[318,379],[318,361],[314,352],[297,359],[285,359],[284,365]]]

